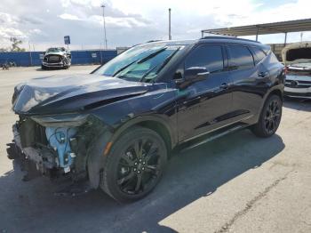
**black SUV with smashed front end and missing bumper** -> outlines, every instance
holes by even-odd
[[[248,126],[259,137],[274,134],[283,86],[283,65],[264,44],[219,36],[140,44],[90,75],[16,86],[20,119],[8,157],[21,159],[27,180],[68,178],[67,193],[81,185],[137,200],[181,144]]]

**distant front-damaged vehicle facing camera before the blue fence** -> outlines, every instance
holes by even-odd
[[[71,53],[63,47],[49,48],[44,52],[44,60],[41,67],[47,68],[69,68],[71,66]]]

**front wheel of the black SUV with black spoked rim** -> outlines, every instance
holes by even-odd
[[[166,161],[161,136],[148,128],[132,127],[108,153],[100,187],[119,202],[136,201],[156,187]]]

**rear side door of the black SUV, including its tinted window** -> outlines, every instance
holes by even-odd
[[[248,46],[227,45],[227,53],[233,82],[233,120],[248,120],[259,113],[267,91],[267,68]]]

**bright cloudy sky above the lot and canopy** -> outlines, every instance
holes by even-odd
[[[70,49],[102,48],[104,31],[102,0],[1,0],[0,48],[18,37],[27,50],[43,51],[63,46]],[[168,38],[171,8],[172,39],[199,38],[201,30],[311,18],[310,0],[107,0],[105,4],[108,48],[132,46]],[[255,36],[247,36],[255,39]],[[300,33],[290,33],[298,42]],[[284,35],[259,36],[262,43],[283,43]],[[303,33],[311,40],[311,32]]]

